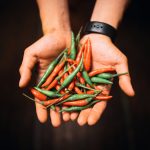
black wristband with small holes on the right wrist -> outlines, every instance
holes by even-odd
[[[114,41],[116,38],[117,30],[107,23],[91,21],[85,25],[85,28],[83,30],[84,35],[89,33],[103,34],[109,36],[112,41]]]

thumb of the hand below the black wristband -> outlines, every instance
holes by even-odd
[[[116,66],[117,73],[129,72],[127,61]],[[134,96],[134,90],[131,84],[131,78],[129,74],[119,76],[119,86],[128,95]]]

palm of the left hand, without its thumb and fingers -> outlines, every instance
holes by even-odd
[[[38,47],[38,50],[35,50],[35,55],[38,58],[38,71],[39,77],[41,77],[49,63],[55,59],[67,45],[63,37],[53,35],[45,35],[35,44]]]

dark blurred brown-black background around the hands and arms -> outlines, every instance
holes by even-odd
[[[90,18],[92,0],[70,1],[72,28]],[[18,88],[23,51],[42,36],[35,0],[0,1],[0,149],[148,150],[150,149],[150,13],[148,1],[133,0],[118,29],[116,45],[128,57],[135,97],[125,96],[117,81],[114,98],[92,127],[76,122],[53,128],[37,121],[34,103]]]

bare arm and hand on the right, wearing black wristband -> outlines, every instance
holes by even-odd
[[[125,11],[127,0],[97,0],[91,17],[91,21],[105,22],[117,28]],[[82,41],[90,38],[92,44],[93,69],[113,66],[117,73],[129,72],[127,57],[112,43],[108,36],[102,34],[85,35]],[[121,89],[129,96],[134,95],[129,75],[119,77]],[[106,107],[102,101],[93,106],[92,109],[81,111],[78,117],[79,125],[88,123],[95,124]],[[72,116],[72,115],[71,115]]]

